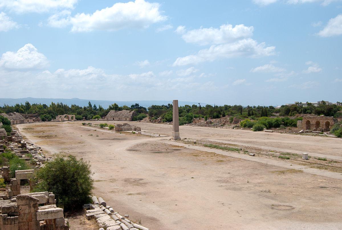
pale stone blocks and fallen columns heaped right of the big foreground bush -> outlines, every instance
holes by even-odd
[[[137,223],[127,219],[129,215],[121,216],[115,212],[113,207],[108,206],[102,197],[93,196],[93,204],[85,204],[83,208],[86,212],[86,218],[96,219],[96,222],[100,229],[107,230],[149,230],[148,228],[141,226]]]

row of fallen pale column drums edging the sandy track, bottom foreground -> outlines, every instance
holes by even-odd
[[[110,215],[112,219],[114,219],[121,227],[122,230],[149,230],[148,228],[138,225],[137,223],[133,223],[126,217],[128,215],[121,216],[119,213],[114,212],[114,209],[111,206],[108,206],[107,203],[102,199],[102,197],[93,196],[91,197],[93,203],[96,205],[100,205],[102,211],[106,214]],[[104,228],[100,228],[99,230],[104,230]]]

